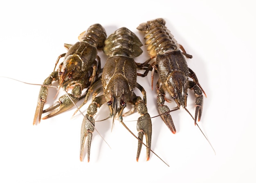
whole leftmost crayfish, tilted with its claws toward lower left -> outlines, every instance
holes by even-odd
[[[80,42],[76,42],[74,45],[64,45],[68,50],[67,53],[58,56],[54,71],[45,79],[40,89],[33,125],[36,121],[40,123],[42,113],[55,109],[43,118],[47,119],[70,109],[79,100],[82,90],[90,87],[94,80],[98,78],[101,62],[97,55],[97,49],[103,48],[106,37],[105,29],[100,24],[94,24],[87,31],[80,34]],[[63,62],[55,70],[62,57],[64,57]],[[51,107],[43,110],[47,99],[48,86],[51,86],[53,81],[58,81],[59,90],[61,88],[66,91],[72,89],[72,92],[68,94],[69,96],[67,94],[61,96]]]

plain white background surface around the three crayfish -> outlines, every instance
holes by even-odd
[[[164,18],[166,26],[188,54],[188,65],[207,93],[200,127],[216,155],[184,109],[171,113],[177,134],[160,117],[152,119],[152,150],[145,147],[136,162],[137,140],[112,120],[96,127],[111,149],[93,134],[91,160],[79,161],[83,117],[74,108],[32,125],[39,86],[0,78],[0,182],[255,182],[255,5],[244,1],[5,1],[0,3],[0,76],[43,83],[54,69],[64,43],[74,44],[94,23],[108,35],[120,27],[136,27]],[[144,62],[144,53],[136,58]],[[106,56],[100,51],[104,63]],[[103,64],[102,64],[103,65]],[[156,116],[156,92],[150,76],[138,78],[147,91],[148,111]],[[56,91],[48,98],[53,103]],[[194,114],[194,96],[188,109]],[[174,107],[175,104],[167,104]],[[85,113],[88,105],[82,108]],[[106,118],[106,105],[96,120]],[[137,134],[138,114],[124,118]]]

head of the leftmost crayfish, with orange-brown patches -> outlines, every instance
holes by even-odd
[[[79,56],[72,55],[65,58],[65,62],[59,65],[58,76],[59,86],[67,86],[73,80],[81,78],[82,62]]]

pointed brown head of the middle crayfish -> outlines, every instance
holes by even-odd
[[[104,95],[110,108],[110,116],[113,118],[122,117],[123,110],[130,101],[132,92],[133,90],[130,90],[128,81],[124,76],[113,76],[107,87],[104,88]]]

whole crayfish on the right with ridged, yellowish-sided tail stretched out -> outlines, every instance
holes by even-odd
[[[180,109],[182,106],[186,109],[187,102],[187,90],[193,89],[195,94],[195,125],[198,118],[200,121],[203,107],[203,95],[204,90],[198,83],[198,79],[195,73],[187,66],[184,56],[192,58],[191,55],[186,54],[184,48],[177,43],[173,38],[173,35],[165,27],[165,20],[158,18],[150,20],[146,23],[142,23],[137,27],[138,30],[144,31],[146,36],[145,45],[147,45],[147,51],[151,59],[156,58],[155,62],[148,64],[151,59],[148,59],[144,64],[139,65],[140,69],[145,69],[144,74],[140,76],[146,76],[148,71],[152,71],[152,88],[153,88],[153,76],[155,71],[159,75],[157,81],[157,105],[159,114],[168,126],[168,128],[175,133],[175,126],[171,115],[170,109],[164,105],[166,100],[165,92],[168,92],[172,99],[177,104],[174,110]],[[139,75],[139,74],[138,74]],[[188,80],[192,78],[192,80]],[[205,93],[204,93],[205,94]],[[188,112],[188,110],[186,109]],[[189,113],[190,114],[190,113]]]

